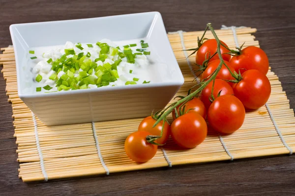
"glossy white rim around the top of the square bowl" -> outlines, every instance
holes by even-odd
[[[9,26],[10,35],[12,38],[12,44],[15,46],[14,41],[14,29],[17,26],[23,26],[23,25],[38,25],[38,24],[50,24],[50,23],[67,23],[69,21],[91,21],[91,20],[99,20],[104,18],[118,18],[122,16],[138,16],[138,15],[145,15],[145,14],[154,14],[155,16],[158,16],[160,18],[161,26],[164,28],[166,32],[166,28],[164,26],[164,22],[161,16],[160,12],[152,11],[152,12],[140,12],[140,13],[132,13],[132,14],[122,14],[122,15],[113,15],[113,16],[103,16],[103,17],[94,17],[94,18],[83,18],[83,19],[71,19],[71,20],[59,20],[59,21],[46,21],[46,22],[33,22],[33,23],[22,23],[22,24],[12,24]],[[174,55],[174,51],[171,47],[170,41],[168,39],[167,33],[165,33],[166,36],[164,36],[164,41],[169,43],[169,52],[172,53],[173,60],[178,65],[177,59]],[[18,63],[17,58],[17,52],[14,48],[15,53],[15,61],[16,61],[16,75],[17,75],[17,87],[18,89],[21,89],[21,81],[20,81],[20,66]],[[79,89],[76,91],[58,91],[58,92],[46,92],[46,93],[40,93],[40,94],[23,94],[21,91],[18,91],[19,98],[40,98],[40,97],[59,97],[59,96],[66,96],[66,95],[78,95],[78,94],[84,94],[84,93],[98,93],[98,92],[109,92],[109,91],[119,91],[119,90],[128,90],[128,89],[146,89],[146,88],[155,88],[155,87],[169,87],[169,86],[182,86],[184,83],[184,77],[180,70],[179,65],[176,67],[176,71],[180,73],[179,80],[175,81],[169,81],[169,82],[157,82],[157,83],[147,83],[147,84],[136,84],[136,85],[122,85],[122,86],[112,86],[112,87],[103,87],[103,88],[89,88],[89,89]]]

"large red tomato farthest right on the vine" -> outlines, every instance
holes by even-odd
[[[246,109],[258,109],[268,100],[271,92],[270,82],[258,70],[247,70],[242,79],[233,85],[235,96]]]

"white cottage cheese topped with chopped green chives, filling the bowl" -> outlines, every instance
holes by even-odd
[[[110,86],[142,84],[156,81],[156,74],[153,73],[155,63],[149,57],[149,52],[152,51],[149,50],[147,45],[143,47],[142,44],[145,44],[144,41],[141,41],[141,39],[136,39],[112,42],[108,39],[103,39],[99,41],[99,43],[106,43],[109,46],[109,52],[107,54],[104,53],[104,60],[101,60],[103,58],[101,58],[102,48],[100,48],[100,46],[103,45],[96,43],[80,44],[66,42],[63,46],[37,47],[29,49],[30,51],[33,51],[29,53],[29,57],[31,58],[29,59],[30,72],[33,76],[33,85],[31,85],[30,88],[34,88],[34,91],[30,92],[41,93],[76,90],[79,89],[81,86],[83,88],[103,88]],[[136,46],[134,46],[134,44],[136,44]],[[129,45],[129,47],[125,45]],[[124,54],[125,52],[123,46],[125,46],[126,49],[131,49],[134,63],[128,62],[129,59],[122,56],[122,54]],[[82,58],[82,60],[77,59],[76,61],[80,60],[83,64],[86,62],[86,67],[89,65],[90,67],[93,66],[93,68],[85,70],[85,67],[82,66],[81,68],[78,67],[79,69],[77,69],[77,67],[74,67],[75,69],[69,69],[70,67],[64,66],[62,68],[59,68],[59,70],[55,69],[55,65],[62,64],[62,62],[56,62],[59,61],[62,56],[66,55],[66,60],[64,61],[66,62],[67,60],[71,60],[71,58],[77,58],[77,56],[79,58],[79,54],[81,54],[82,52],[82,55],[86,55],[86,57],[84,59]],[[144,52],[147,55],[145,55]],[[54,64],[54,62],[56,63]],[[110,73],[108,73],[106,68],[108,68],[108,66],[110,65],[112,66],[112,68],[109,69]],[[116,66],[116,70],[113,70],[114,66]],[[99,69],[98,67],[103,68],[104,70]],[[105,73],[108,74],[106,75],[107,78],[109,77],[109,75],[111,76],[111,80],[107,79],[108,81],[101,81],[105,79],[105,76],[102,76],[102,74]],[[57,76],[54,77],[55,75]],[[40,76],[42,76],[41,80]],[[83,78],[88,78],[91,82],[84,82],[85,80]],[[38,82],[36,80],[40,81]],[[61,81],[62,84],[60,83]],[[44,86],[47,86],[47,88],[44,89]]]

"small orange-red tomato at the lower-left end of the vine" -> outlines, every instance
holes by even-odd
[[[125,152],[133,161],[147,162],[156,154],[158,147],[147,142],[148,135],[151,134],[146,131],[136,131],[126,138]]]

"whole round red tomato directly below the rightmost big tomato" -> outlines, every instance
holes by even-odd
[[[244,119],[245,108],[242,102],[232,95],[216,98],[208,109],[208,123],[220,133],[235,132],[242,126]]]

